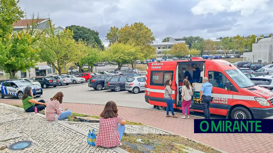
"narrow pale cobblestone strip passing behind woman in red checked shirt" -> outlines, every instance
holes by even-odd
[[[89,129],[95,129],[96,132],[99,132],[99,123],[83,123],[83,122],[69,122],[69,124],[75,126],[76,128],[82,129],[83,131],[89,131]],[[142,125],[125,125],[124,133],[127,134],[171,134],[160,129],[155,129],[149,126]]]

